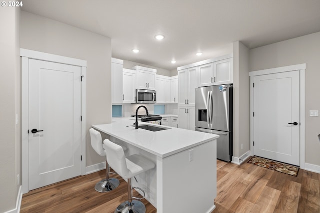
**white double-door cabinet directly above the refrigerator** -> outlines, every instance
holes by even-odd
[[[233,83],[232,58],[198,66],[198,87]]]

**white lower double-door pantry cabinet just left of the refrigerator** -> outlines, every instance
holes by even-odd
[[[178,127],[182,129],[194,130],[195,109],[194,107],[178,107]]]

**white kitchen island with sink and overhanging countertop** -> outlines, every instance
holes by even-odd
[[[154,162],[155,168],[136,176],[138,183],[132,185],[145,191],[157,213],[211,213],[219,136],[174,127],[152,132],[134,129],[133,123],[132,118],[115,118],[110,124],[92,125],[126,146],[126,155],[139,154]]]

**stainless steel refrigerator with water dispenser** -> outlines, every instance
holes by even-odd
[[[195,131],[219,135],[216,158],[232,157],[232,85],[195,88]]]

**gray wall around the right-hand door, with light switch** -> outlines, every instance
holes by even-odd
[[[249,50],[249,71],[306,63],[305,70],[305,163],[320,166],[320,32]]]

